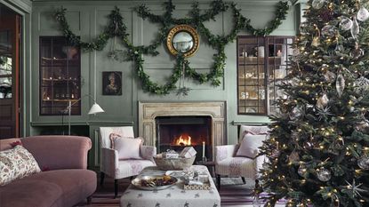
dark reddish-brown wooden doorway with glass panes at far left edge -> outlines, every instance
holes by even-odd
[[[20,137],[21,16],[0,4],[0,139]]]

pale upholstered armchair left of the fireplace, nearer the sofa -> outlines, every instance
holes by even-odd
[[[148,166],[155,166],[153,157],[156,147],[140,146],[141,159],[120,160],[118,152],[111,148],[110,134],[115,133],[121,137],[134,138],[132,126],[100,127],[100,185],[103,185],[105,175],[114,179],[115,197],[118,194],[118,179],[136,176]]]

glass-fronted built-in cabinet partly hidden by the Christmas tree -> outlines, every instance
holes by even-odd
[[[238,115],[270,115],[283,93],[277,84],[285,80],[292,54],[292,36],[237,37]]]

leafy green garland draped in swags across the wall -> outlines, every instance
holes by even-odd
[[[128,39],[129,35],[126,32],[127,28],[123,22],[123,17],[121,16],[117,7],[108,15],[108,26],[91,43],[85,43],[81,41],[78,36],[76,36],[70,30],[68,21],[65,17],[66,9],[61,8],[57,10],[54,15],[55,19],[59,22],[60,30],[67,38],[68,43],[80,47],[85,52],[92,52],[94,50],[101,51],[108,44],[109,38],[120,38],[124,46],[127,48],[127,52],[125,54],[126,60],[132,60],[135,62],[137,76],[140,78],[143,90],[158,95],[165,95],[177,88],[175,84],[179,81],[182,73],[184,73],[184,76],[186,77],[197,80],[197,82],[200,84],[210,82],[213,86],[219,86],[221,84],[220,78],[223,76],[224,72],[225,61],[227,59],[227,56],[224,52],[225,46],[229,44],[229,42],[233,42],[237,37],[237,33],[243,29],[254,36],[269,35],[280,24],[282,24],[282,20],[285,20],[285,15],[289,9],[287,2],[278,2],[277,10],[275,12],[276,18],[269,22],[269,26],[267,28],[256,29],[251,26],[250,20],[245,18],[240,13],[240,9],[237,9],[236,4],[224,3],[222,0],[213,1],[211,3],[211,9],[202,14],[200,13],[198,3],[196,2],[192,5],[192,10],[189,12],[189,17],[182,19],[172,18],[172,12],[175,10],[172,0],[165,2],[164,6],[166,11],[162,15],[156,15],[149,12],[148,8],[144,4],[134,9],[142,19],[148,19],[153,23],[158,23],[161,25],[156,39],[148,46],[134,46],[131,43],[131,41]],[[234,27],[227,36],[213,35],[208,28],[205,28],[204,22],[208,20],[215,20],[215,16],[217,14],[226,12],[229,8],[233,12]],[[207,41],[207,44],[210,44],[213,49],[217,51],[213,55],[213,67],[207,74],[197,73],[194,68],[189,67],[189,60],[185,59],[182,54],[179,54],[177,55],[172,75],[168,78],[166,84],[157,84],[156,82],[150,80],[150,76],[148,76],[143,69],[143,55],[156,56],[158,54],[156,48],[160,44],[165,43],[169,29],[173,25],[179,24],[189,24],[194,28],[197,28],[200,36],[205,36],[205,41]],[[124,53],[122,51],[117,50],[109,52],[108,54],[108,56],[114,60],[119,60],[119,57],[123,55]],[[181,88],[179,93],[182,92],[184,95],[186,95],[187,92],[184,89],[185,88]]]

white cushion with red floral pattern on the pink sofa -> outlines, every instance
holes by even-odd
[[[39,172],[40,167],[28,150],[20,145],[0,152],[0,186]]]

